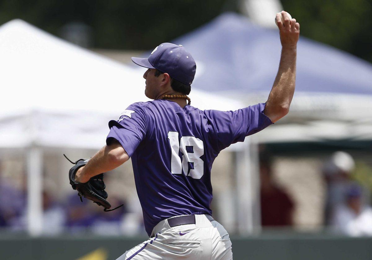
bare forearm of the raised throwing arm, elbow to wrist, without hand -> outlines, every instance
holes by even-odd
[[[266,111],[276,115],[272,121],[288,113],[295,92],[296,83],[296,47],[283,47],[278,74],[266,102]],[[271,119],[271,118],[270,118]]]

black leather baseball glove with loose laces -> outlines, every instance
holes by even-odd
[[[71,167],[71,169],[68,171],[68,178],[70,179],[72,188],[78,191],[77,195],[80,197],[81,202],[83,202],[82,197],[90,199],[97,205],[102,206],[104,208],[103,211],[113,211],[123,206],[120,205],[119,207],[116,207],[114,209],[109,209],[111,208],[111,204],[106,200],[108,194],[105,191],[106,185],[105,182],[103,182],[103,173],[90,178],[90,180],[86,183],[75,181],[77,170],[86,165],[89,162],[89,159],[79,159],[76,162],[73,162],[68,159],[65,154],[64,156],[68,161],[74,164],[74,166]]]

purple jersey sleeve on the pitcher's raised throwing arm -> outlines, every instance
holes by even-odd
[[[273,124],[263,113],[264,108],[265,103],[260,103],[236,111],[205,110],[218,152]]]

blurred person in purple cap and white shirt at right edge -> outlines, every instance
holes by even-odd
[[[334,230],[353,237],[372,235],[372,208],[363,205],[360,186],[350,186],[345,197],[345,204],[334,211],[331,220]]]

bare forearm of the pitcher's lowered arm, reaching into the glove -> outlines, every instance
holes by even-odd
[[[113,143],[100,149],[84,166],[76,173],[77,182],[87,182],[93,176],[113,170],[129,159],[128,154],[119,143]]]

